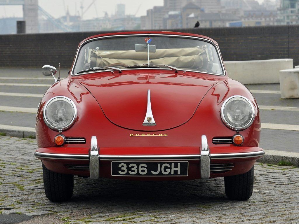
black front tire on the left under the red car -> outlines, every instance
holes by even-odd
[[[69,200],[74,192],[74,175],[58,174],[42,164],[46,197],[53,202]]]

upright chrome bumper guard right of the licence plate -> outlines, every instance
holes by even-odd
[[[200,148],[200,177],[202,179],[210,178],[210,149],[207,136],[202,135],[202,147]]]

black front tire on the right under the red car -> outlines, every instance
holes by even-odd
[[[231,200],[245,201],[253,191],[254,166],[245,174],[224,177],[225,194]]]

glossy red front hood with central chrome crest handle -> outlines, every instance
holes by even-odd
[[[115,125],[138,131],[161,131],[187,122],[217,82],[192,76],[139,73],[94,77],[80,83]],[[148,90],[156,126],[142,125],[147,112]]]

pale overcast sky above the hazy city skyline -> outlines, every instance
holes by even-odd
[[[63,4],[63,2],[65,4]],[[69,9],[71,15],[78,12],[81,14],[81,2],[83,2],[83,12],[92,3],[92,0],[39,0],[39,6],[45,9],[53,17],[58,18],[65,15],[65,10]],[[104,11],[107,11],[109,16],[115,13],[116,4],[123,3],[126,5],[126,14],[135,15],[140,6],[136,16],[146,15],[146,11],[155,5],[163,5],[163,0],[96,0],[95,5],[86,11],[83,19],[92,19],[104,16]],[[65,6],[64,6],[65,5]],[[4,17],[23,17],[22,6],[2,6],[0,5],[0,18]]]

